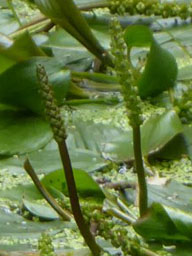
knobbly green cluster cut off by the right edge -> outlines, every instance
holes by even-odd
[[[192,86],[184,91],[182,97],[175,99],[176,110],[182,123],[190,124],[192,121]]]

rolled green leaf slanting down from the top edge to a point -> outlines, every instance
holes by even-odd
[[[67,0],[65,3],[62,0],[35,0],[35,3],[46,16],[63,27],[91,53],[101,60],[106,59],[106,63],[111,64],[105,49],[94,37],[86,20],[72,0]]]

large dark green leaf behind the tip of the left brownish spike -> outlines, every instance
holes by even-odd
[[[36,65],[45,66],[59,104],[63,102],[70,85],[70,72],[62,70],[65,61],[34,57],[18,63],[0,75],[0,102],[42,114],[43,105],[38,93]]]

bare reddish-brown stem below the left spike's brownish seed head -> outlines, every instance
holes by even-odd
[[[77,195],[75,179],[74,179],[71,161],[70,161],[70,157],[69,157],[69,153],[67,150],[65,140],[63,140],[62,142],[58,142],[58,147],[59,147],[59,152],[60,152],[61,160],[63,163],[64,171],[65,171],[65,178],[67,181],[67,187],[68,187],[68,192],[69,192],[69,197],[70,197],[70,202],[71,202],[71,208],[72,208],[72,212],[73,212],[75,221],[77,223],[77,226],[78,226],[83,238],[85,239],[85,242],[89,246],[92,254],[94,256],[99,256],[101,249],[95,242],[95,239],[94,239],[93,235],[91,234],[88,225],[85,223],[85,220],[84,220],[82,212],[81,212],[79,198]]]

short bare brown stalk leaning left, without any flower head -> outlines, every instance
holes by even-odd
[[[66,221],[70,221],[71,214],[65,210],[63,210],[60,205],[56,202],[56,200],[49,194],[49,192],[46,190],[46,188],[43,186],[43,184],[40,182],[37,174],[35,173],[29,159],[25,160],[24,163],[24,169],[29,174],[31,179],[33,180],[35,186],[39,190],[39,192],[42,194],[42,196],[46,199],[46,201],[53,207],[53,209]]]

